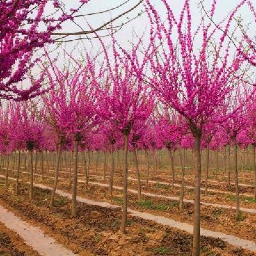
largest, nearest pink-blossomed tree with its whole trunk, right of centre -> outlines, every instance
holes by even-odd
[[[201,137],[203,126],[214,118],[228,93],[235,89],[235,79],[244,58],[239,53],[228,60],[231,43],[226,31],[218,36],[218,29],[202,17],[198,27],[192,31],[190,1],[186,0],[176,19],[170,4],[162,0],[167,13],[163,22],[155,7],[146,1],[146,11],[150,22],[150,43],[146,54],[151,64],[152,75],[133,68],[141,80],[147,80],[157,97],[168,108],[175,109],[184,116],[188,129],[195,139],[195,212],[193,255],[199,255],[200,246],[200,183],[201,183]],[[213,1],[210,16],[213,17],[216,1]],[[219,31],[218,31],[219,33]],[[178,38],[178,46],[173,36]],[[217,39],[216,39],[217,37]],[[198,46],[198,40],[201,45]],[[214,55],[210,55],[212,48]],[[199,49],[198,49],[199,48]],[[220,56],[224,54],[222,61]],[[161,56],[161,58],[159,58]],[[132,58],[130,58],[132,60]],[[234,76],[236,74],[236,76]]]

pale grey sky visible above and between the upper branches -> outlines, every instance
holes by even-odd
[[[78,0],[62,0],[62,2],[66,5],[66,9],[74,8],[77,7],[78,5]],[[120,13],[130,9],[132,6],[134,6],[136,3],[138,3],[139,0],[130,0],[127,4],[123,5],[122,7],[118,8],[117,10],[104,13],[104,14],[98,14],[98,15],[93,15],[93,16],[87,16],[86,19],[87,21],[92,25],[93,28],[96,28],[100,25],[102,25],[104,22],[108,21],[112,17],[116,17]],[[232,11],[233,8],[239,4],[241,0],[217,0],[217,7],[214,15],[214,21],[218,22],[222,20],[224,17],[227,16],[228,12]],[[110,8],[113,8],[119,4],[124,3],[124,0],[90,0],[88,4],[85,4],[83,9],[81,9],[81,13],[92,13],[92,12],[100,12],[103,10],[107,10]],[[151,0],[151,3],[154,4],[155,8],[158,10],[158,13],[163,17],[165,17],[165,8],[162,4],[161,0]],[[180,10],[184,4],[184,0],[169,0],[169,3],[172,6],[172,10],[175,14],[175,16],[178,18],[180,14]],[[196,24],[196,26],[200,22],[200,12],[198,9],[198,3],[199,0],[191,0],[191,14],[192,14],[192,19],[193,23]],[[252,0],[252,3],[256,7],[256,0]],[[204,6],[206,10],[210,10],[212,5],[212,0],[204,0]],[[138,12],[140,12],[143,9],[143,4],[140,4],[135,10],[130,12],[129,14],[125,15],[123,18],[117,20],[114,22],[114,25],[118,25],[124,21],[127,20],[127,16],[129,17],[134,17]],[[52,12],[53,8],[49,8],[47,11]],[[238,12],[237,15],[241,15],[244,18],[244,23],[247,24],[249,22],[253,22],[253,15],[250,12],[249,8],[241,8]],[[86,21],[83,18],[77,18],[75,20],[81,27],[84,29],[88,29],[88,26],[86,24]],[[119,32],[116,33],[115,37],[119,44],[121,44],[124,48],[129,47],[129,40],[132,38],[132,30],[134,29],[139,35],[142,35],[144,29],[148,25],[148,17],[147,14],[144,13],[137,19],[131,21],[129,24],[126,24]],[[66,22],[65,26],[63,26],[62,29],[63,32],[76,32],[76,31],[81,31],[80,28],[78,28],[73,22]],[[103,33],[104,34],[104,33]],[[255,26],[255,21],[253,26],[250,28],[250,35],[255,36],[256,35],[256,26]],[[83,36],[84,37],[84,36]],[[69,36],[68,39],[74,39],[76,37],[71,37]],[[145,43],[147,43],[147,38],[144,38]],[[103,41],[106,44],[110,43],[109,37],[108,38],[103,38]],[[90,43],[88,40],[84,39],[83,40],[84,44],[86,45],[86,48],[88,50],[91,50],[92,48],[94,51],[97,51],[100,47],[100,44],[98,42],[98,39],[92,39],[92,43]],[[64,45],[63,45],[64,46]],[[52,48],[52,46],[51,46]],[[83,50],[83,44],[78,41],[74,42],[69,42],[66,43],[66,50],[70,52],[73,48],[75,50],[73,51],[73,56],[78,57],[79,52]],[[57,50],[61,52],[61,49]],[[55,56],[55,53],[52,53],[52,56]],[[58,59],[58,63],[62,65],[62,58],[61,54]]]

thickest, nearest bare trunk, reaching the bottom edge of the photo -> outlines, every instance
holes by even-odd
[[[195,138],[195,199],[193,256],[200,255],[200,197],[201,197],[201,133],[196,131]]]

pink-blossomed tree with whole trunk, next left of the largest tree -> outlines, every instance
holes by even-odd
[[[152,112],[154,100],[143,81],[132,74],[133,68],[126,56],[116,50],[114,37],[112,36],[114,66],[110,64],[110,53],[102,40],[99,40],[105,53],[105,68],[100,70],[99,75],[104,81],[104,87],[99,83],[97,92],[99,114],[124,136],[124,203],[120,226],[120,232],[124,233],[127,219],[128,137],[135,122],[143,123],[147,120]],[[136,47],[132,48],[134,61],[137,59],[137,50]]]

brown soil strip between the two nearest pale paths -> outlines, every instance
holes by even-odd
[[[14,188],[13,182],[11,188]],[[91,255],[113,256],[191,254],[192,236],[178,229],[129,217],[126,235],[121,236],[117,232],[120,209],[78,203],[78,216],[71,218],[68,198],[56,196],[54,207],[49,208],[50,191],[35,188],[34,192],[34,199],[28,201],[27,185],[21,185],[19,196],[1,185],[0,202],[22,219],[42,228],[77,255],[84,255],[84,250],[91,252]],[[201,255],[256,254],[230,246],[220,239],[201,237]]]

